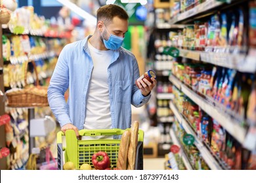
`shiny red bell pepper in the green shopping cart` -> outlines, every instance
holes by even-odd
[[[110,167],[110,158],[103,151],[93,154],[92,162],[96,170],[104,170]]]

